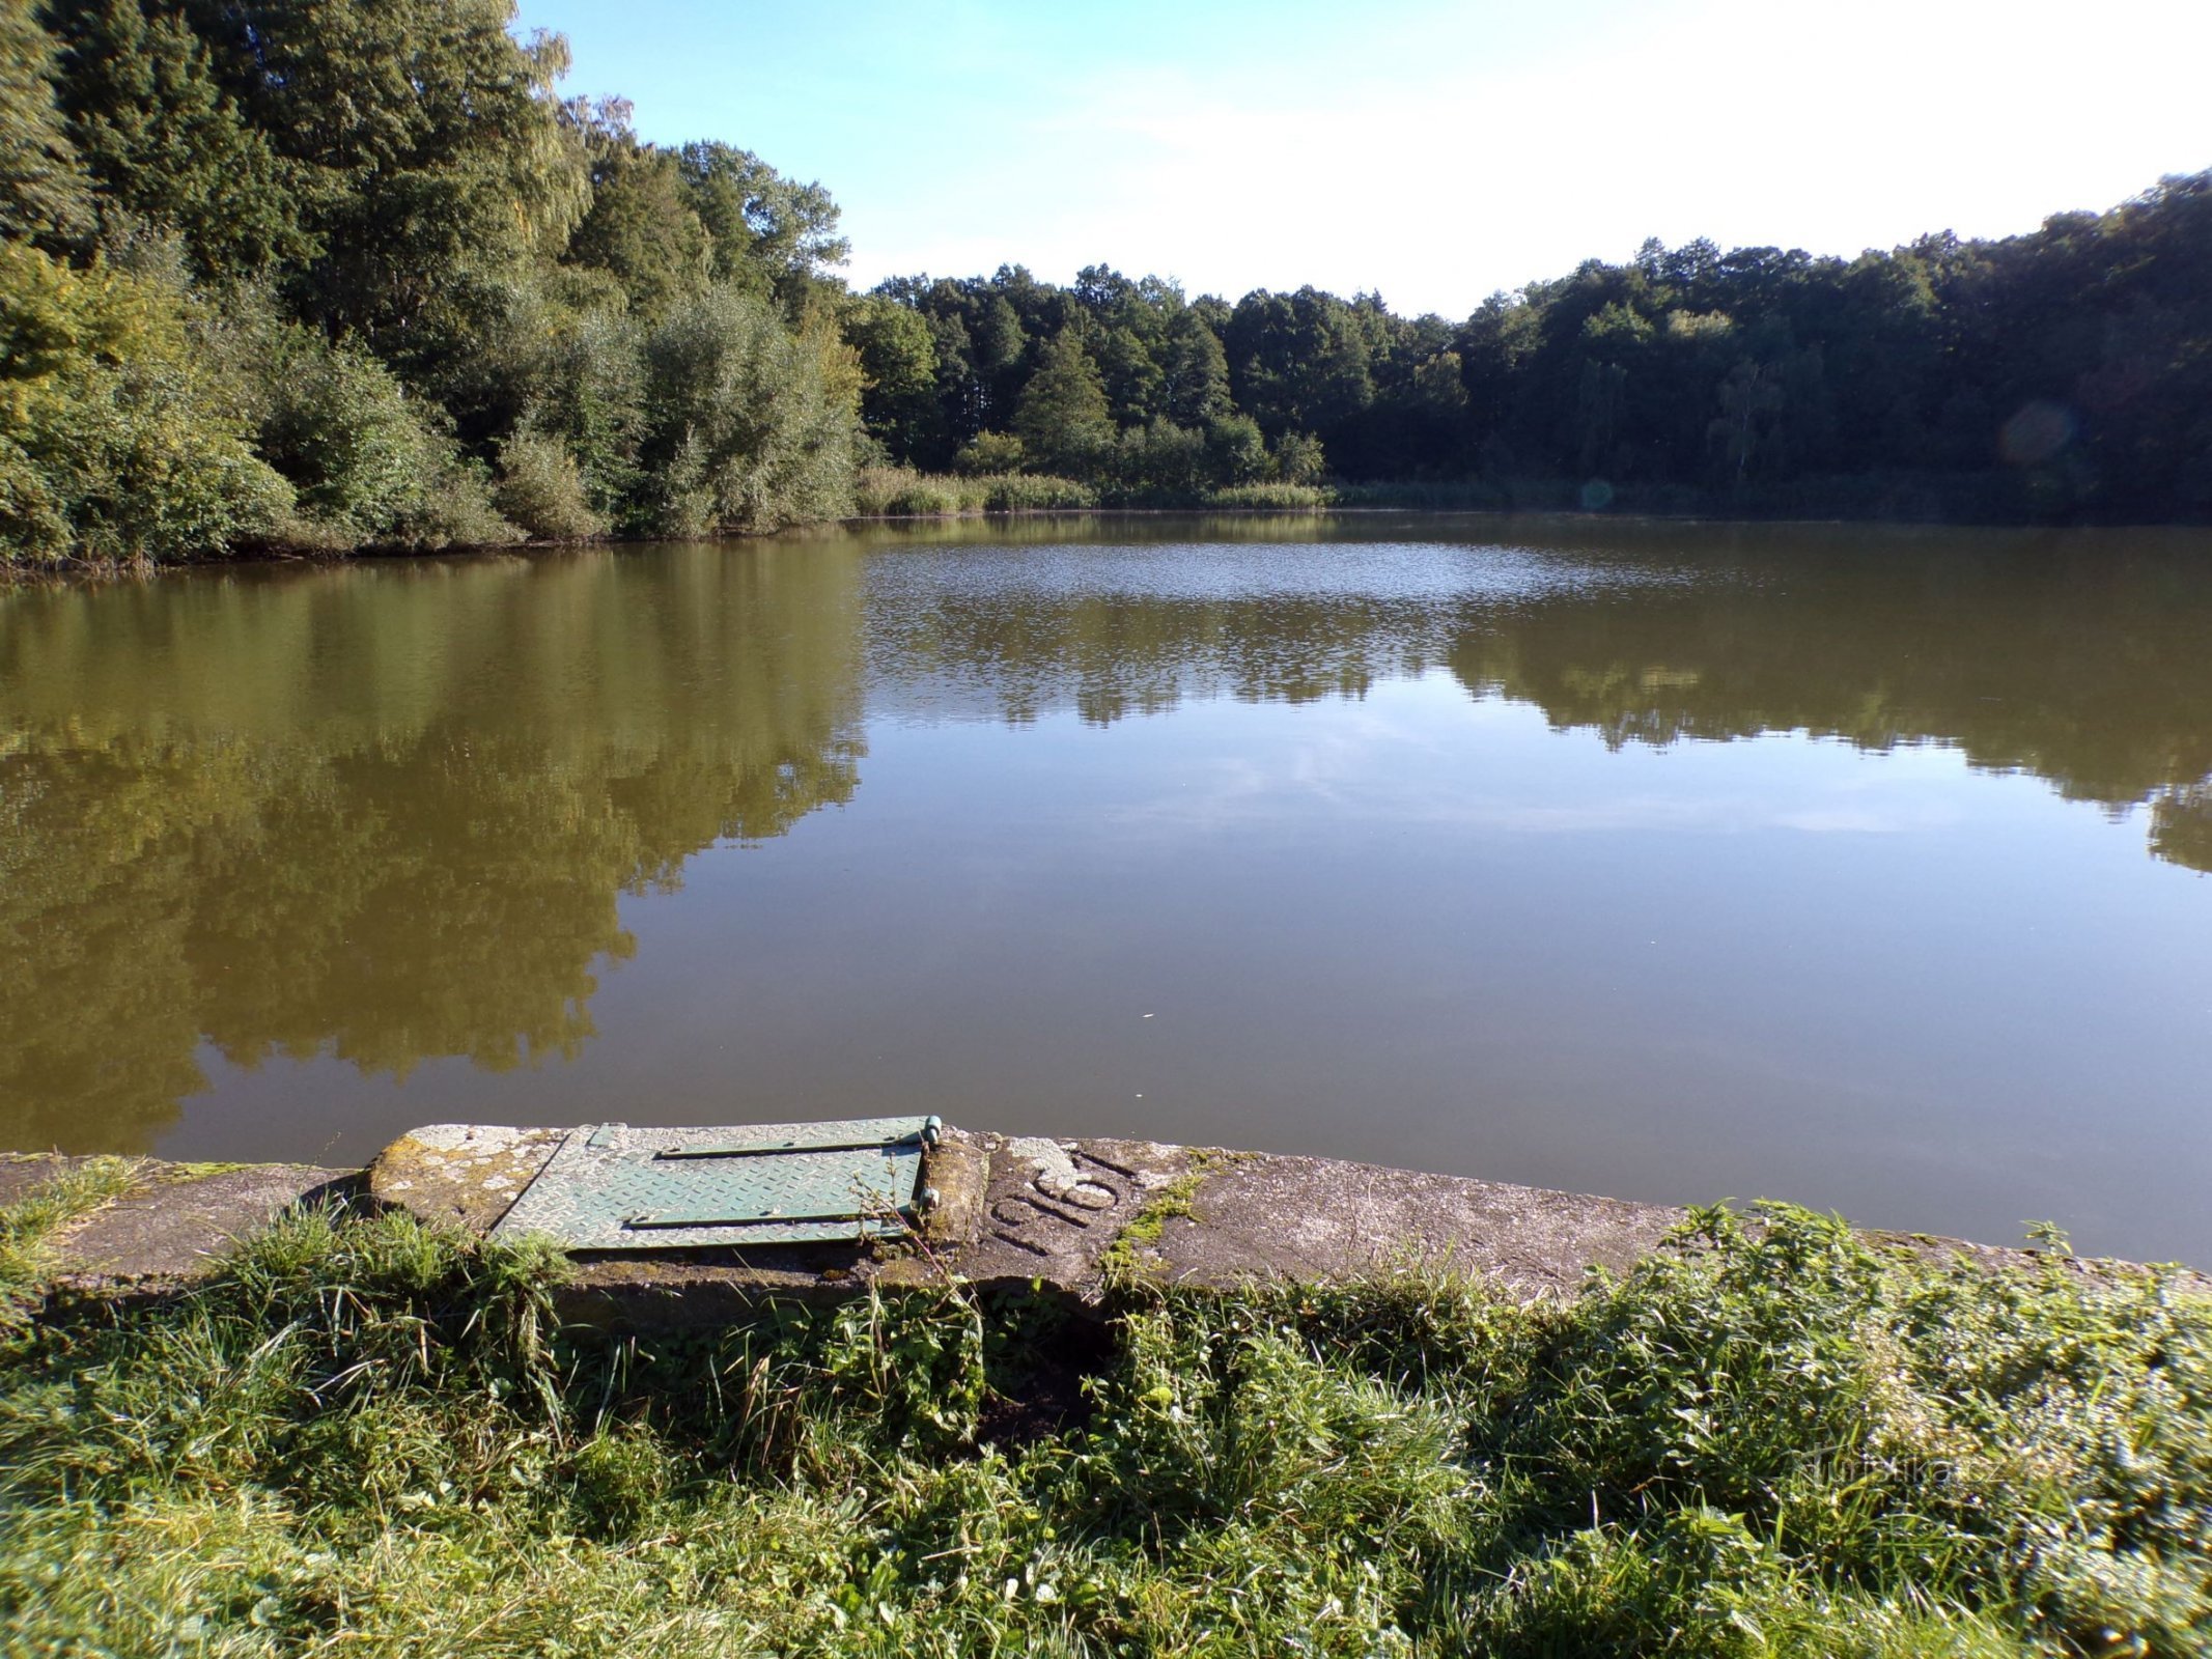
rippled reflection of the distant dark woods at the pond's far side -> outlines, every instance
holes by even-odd
[[[971,533],[951,568],[883,560],[869,701],[1104,726],[1186,699],[1363,697],[1447,666],[1473,697],[1613,748],[1767,732],[1958,748],[2068,801],[2148,803],[2150,852],[2212,869],[2203,538],[1522,524],[1515,544],[1391,540],[1409,531],[1438,524],[1338,520],[1294,553],[1201,557]]]

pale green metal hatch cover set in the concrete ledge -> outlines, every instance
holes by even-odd
[[[929,1201],[936,1117],[568,1130],[491,1230],[568,1250],[900,1239]]]

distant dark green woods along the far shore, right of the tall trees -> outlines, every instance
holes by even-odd
[[[1464,323],[1004,268],[883,283],[849,336],[894,460],[1106,500],[1329,478],[1416,504],[2212,511],[2212,173],[2004,241],[1648,241]]]

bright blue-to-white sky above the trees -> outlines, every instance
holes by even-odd
[[[1677,246],[1995,237],[2212,166],[2212,0],[520,0],[571,95],[818,179],[845,274],[1467,316]]]

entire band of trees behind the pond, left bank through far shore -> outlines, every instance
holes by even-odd
[[[2212,175],[1849,261],[1646,243],[1462,323],[1104,265],[852,294],[821,186],[639,142],[511,22],[0,0],[0,560],[856,500],[2212,511]]]

